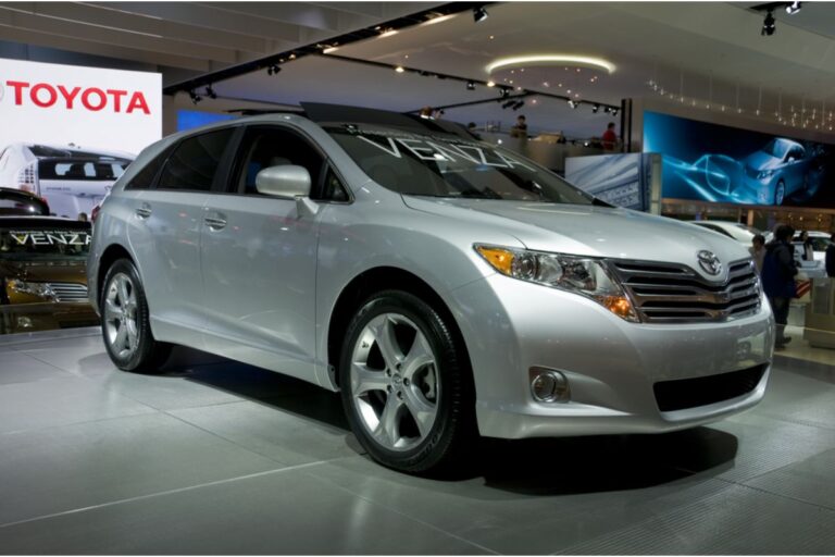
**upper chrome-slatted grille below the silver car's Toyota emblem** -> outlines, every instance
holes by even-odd
[[[718,322],[760,309],[750,259],[731,263],[722,283],[711,283],[686,265],[613,261],[612,267],[646,323]]]

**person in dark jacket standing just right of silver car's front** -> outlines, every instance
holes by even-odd
[[[794,228],[787,224],[781,224],[774,231],[774,239],[765,245],[765,258],[762,262],[762,289],[771,304],[774,312],[774,321],[777,323],[777,335],[774,339],[774,348],[784,348],[792,337],[785,335],[788,321],[788,304],[797,294],[795,275],[797,265],[794,258],[792,237]]]

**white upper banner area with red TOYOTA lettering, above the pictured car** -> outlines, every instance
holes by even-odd
[[[161,74],[0,59],[0,150],[73,144],[136,156],[161,137]]]

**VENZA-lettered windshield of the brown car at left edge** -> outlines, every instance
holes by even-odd
[[[89,249],[89,230],[0,228],[0,259],[13,261],[85,260]]]

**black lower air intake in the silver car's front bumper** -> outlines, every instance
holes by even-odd
[[[652,385],[658,409],[673,412],[747,395],[760,384],[767,364],[706,377],[661,381]]]

